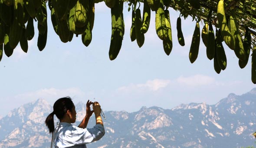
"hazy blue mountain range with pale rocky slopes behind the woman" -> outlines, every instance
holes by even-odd
[[[172,109],[141,107],[132,113],[104,111],[104,137],[88,148],[241,148],[255,145],[256,88],[229,94],[217,104],[181,104]],[[75,105],[79,124],[86,104]],[[49,148],[45,119],[53,107],[38,99],[0,118],[0,148]],[[88,127],[95,124],[95,118]],[[57,122],[57,118],[55,118]]]

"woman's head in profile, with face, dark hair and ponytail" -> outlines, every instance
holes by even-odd
[[[62,120],[65,116],[69,116],[71,123],[75,122],[75,105],[71,98],[59,98],[53,105],[53,112],[48,115],[45,120],[46,126],[49,128],[49,132],[54,131],[54,114],[59,120]]]

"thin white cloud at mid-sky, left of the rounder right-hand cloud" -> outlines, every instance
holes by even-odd
[[[161,88],[167,87],[167,85],[170,84],[170,80],[166,79],[154,79],[154,80],[148,80],[145,83],[141,84],[130,84],[128,86],[123,86],[118,88],[119,91],[158,91]]]

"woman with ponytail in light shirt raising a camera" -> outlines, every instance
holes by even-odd
[[[92,104],[93,110],[90,109]],[[86,128],[92,113],[95,114],[96,125]],[[105,134],[102,118],[100,116],[101,107],[98,102],[87,101],[86,115],[79,126],[73,126],[75,123],[76,112],[75,105],[71,98],[60,98],[53,105],[53,112],[45,120],[50,133],[53,133],[53,145],[55,148],[86,148],[87,143],[97,141]],[[54,128],[53,116],[59,119],[56,129]]]

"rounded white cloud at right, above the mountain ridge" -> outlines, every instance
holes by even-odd
[[[210,85],[215,82],[215,79],[210,76],[204,75],[194,75],[194,76],[180,76],[177,78],[177,82],[181,85],[187,86],[202,86],[202,85]]]

